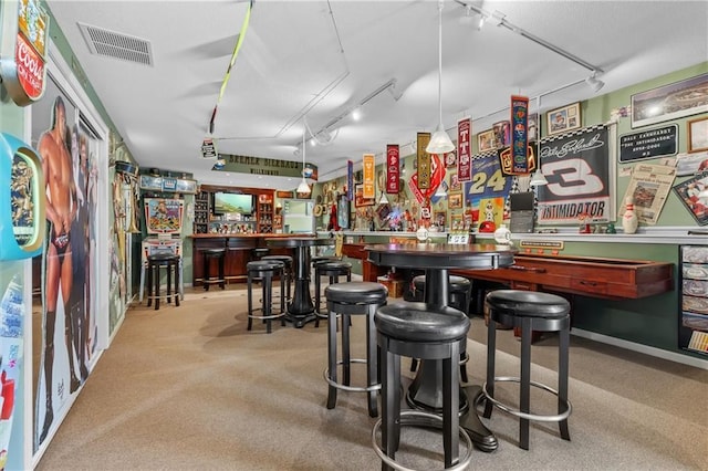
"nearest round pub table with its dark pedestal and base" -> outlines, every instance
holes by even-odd
[[[449,305],[448,270],[493,270],[513,264],[517,250],[493,244],[374,244],[364,250],[368,261],[382,266],[425,270],[425,302],[436,306]],[[424,360],[408,388],[406,401],[410,407],[438,412],[442,409],[442,363]],[[480,386],[460,389],[460,425],[482,451],[497,449],[494,435],[479,420],[475,402]]]

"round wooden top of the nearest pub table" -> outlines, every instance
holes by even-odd
[[[510,245],[451,243],[382,243],[364,248],[368,261],[408,269],[490,270],[513,264],[518,250]]]

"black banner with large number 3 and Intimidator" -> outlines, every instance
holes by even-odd
[[[611,134],[607,126],[597,125],[541,139],[541,171],[549,184],[537,189],[540,224],[615,220]]]

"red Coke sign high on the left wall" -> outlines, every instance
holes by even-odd
[[[18,106],[37,102],[46,85],[49,17],[39,0],[3,0],[0,10],[0,75]]]

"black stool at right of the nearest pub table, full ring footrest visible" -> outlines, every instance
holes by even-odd
[[[559,422],[561,437],[570,440],[568,417],[571,402],[568,400],[569,344],[571,306],[568,300],[555,294],[520,290],[497,290],[487,294],[485,305],[489,311],[487,326],[487,381],[482,394],[487,399],[485,417],[491,417],[492,406],[520,418],[519,447],[529,449],[529,420]],[[494,352],[497,343],[496,324],[504,324],[521,329],[521,376],[494,376]],[[531,380],[531,334],[533,331],[559,333],[558,390]],[[494,383],[520,384],[519,408],[502,404],[494,398]],[[538,415],[530,411],[531,386],[558,396],[558,415]]]

